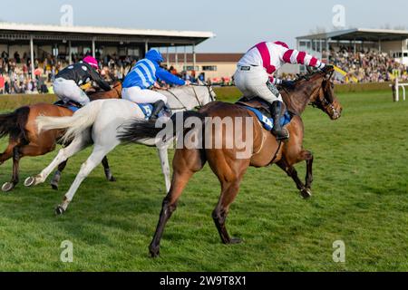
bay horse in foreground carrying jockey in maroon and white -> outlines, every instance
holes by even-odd
[[[236,128],[228,128],[224,130],[221,127],[219,131],[213,131],[211,134],[213,139],[219,137],[222,140],[221,149],[195,149],[184,146],[182,149],[177,149],[173,160],[173,176],[171,180],[171,188],[168,195],[164,198],[160,212],[159,223],[156,232],[151,241],[150,253],[151,256],[160,255],[160,239],[163,234],[164,227],[171,217],[171,214],[176,210],[177,203],[181,193],[185,189],[189,179],[201,170],[208,161],[212,171],[217,175],[221,184],[221,194],[219,203],[212,213],[215,225],[219,231],[219,236],[224,244],[236,244],[240,240],[232,238],[228,235],[226,227],[226,219],[230,204],[238,195],[241,180],[249,166],[260,168],[267,167],[271,164],[283,169],[295,183],[297,189],[303,198],[309,198],[312,194],[312,164],[313,155],[310,151],[304,150],[302,143],[304,137],[304,125],[301,119],[301,114],[306,110],[308,104],[312,104],[317,108],[325,111],[332,119],[340,118],[342,106],[335,98],[334,84],[331,81],[333,72],[309,73],[305,77],[296,80],[293,89],[287,89],[282,92],[283,99],[287,105],[287,110],[293,114],[292,120],[287,124],[287,130],[290,133],[289,140],[285,142],[277,141],[276,137],[263,128],[262,124],[257,120],[253,111],[249,111],[246,107],[240,104],[232,104],[227,102],[212,102],[197,112],[187,112],[183,115],[183,120],[189,117],[198,117],[205,126],[206,118],[219,117],[224,119],[231,117],[232,119],[249,118],[252,120],[252,138],[250,144],[248,158],[237,158],[238,148],[234,145],[232,149],[226,146],[226,131],[235,131]],[[174,122],[175,118],[171,121]],[[236,125],[240,126],[240,131],[245,131],[245,122]],[[125,131],[121,133],[121,140],[140,141],[145,138],[151,138],[154,134],[158,134],[159,129],[154,128],[154,124],[148,122],[135,121]],[[246,136],[245,142],[249,144]],[[204,139],[209,138],[205,135]],[[304,184],[297,176],[294,165],[300,161],[306,160],[306,183]]]

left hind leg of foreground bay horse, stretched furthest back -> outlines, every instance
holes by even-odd
[[[176,150],[173,159],[173,178],[170,191],[161,205],[159,223],[149,247],[151,256],[159,256],[164,227],[177,208],[177,201],[193,174],[203,168],[206,160],[200,150]]]

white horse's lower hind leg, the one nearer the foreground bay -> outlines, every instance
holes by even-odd
[[[68,205],[73,200],[73,196],[75,195],[76,191],[80,187],[83,179],[92,172],[95,167],[97,167],[101,162],[103,157],[105,157],[111,150],[113,150],[117,145],[119,145],[119,141],[112,144],[109,148],[104,148],[100,145],[95,145],[93,148],[91,156],[86,160],[83,165],[81,166],[81,170],[79,171],[78,175],[76,176],[75,180],[73,180],[73,184],[68,192],[65,194],[63,198],[63,203],[55,208],[55,213],[57,215],[62,215]]]

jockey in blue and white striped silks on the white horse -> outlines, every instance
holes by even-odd
[[[161,53],[151,49],[144,59],[135,64],[123,81],[121,98],[136,103],[152,103],[153,111],[151,120],[158,118],[160,111],[167,103],[167,97],[160,92],[151,91],[149,88],[159,78],[160,80],[177,85],[186,85],[189,82],[181,80],[179,77],[169,73],[162,67],[163,62]]]

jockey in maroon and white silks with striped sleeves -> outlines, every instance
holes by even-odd
[[[282,81],[274,78],[274,73],[285,63],[300,63],[325,70],[325,63],[304,52],[289,49],[286,43],[258,43],[246,53],[238,62],[234,75],[235,84],[245,97],[260,97],[270,104],[270,111],[274,118],[272,133],[277,140],[289,137],[286,128],[280,125],[282,116],[282,96],[276,85],[293,87],[294,82]]]

